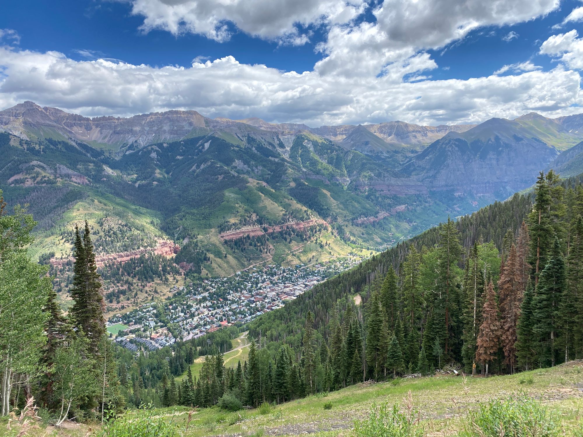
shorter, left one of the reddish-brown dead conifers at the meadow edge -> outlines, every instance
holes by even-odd
[[[494,284],[491,282],[486,287],[486,299],[482,309],[482,326],[477,337],[476,361],[486,365],[486,376],[488,376],[488,366],[491,360],[496,358],[498,347],[500,346],[501,325],[498,319],[498,308],[496,305],[496,293]]]

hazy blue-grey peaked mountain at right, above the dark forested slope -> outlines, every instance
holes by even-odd
[[[430,190],[454,189],[473,195],[524,189],[558,154],[538,138],[529,138],[517,122],[491,119],[465,133],[448,133],[402,168]]]

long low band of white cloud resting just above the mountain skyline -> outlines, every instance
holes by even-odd
[[[560,66],[468,80],[416,77],[429,62],[420,54],[383,76],[349,77],[282,72],[233,57],[157,68],[1,47],[0,107],[33,100],[89,116],[194,109],[209,117],[317,126],[395,119],[467,123],[530,111],[558,116],[583,103],[579,74]],[[403,74],[417,80],[406,82]]]

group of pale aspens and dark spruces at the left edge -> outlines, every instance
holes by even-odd
[[[97,419],[124,406],[113,346],[107,340],[103,297],[87,222],[75,228],[73,305],[64,315],[47,267],[26,252],[36,222],[0,192],[1,415],[33,397],[57,425]]]

